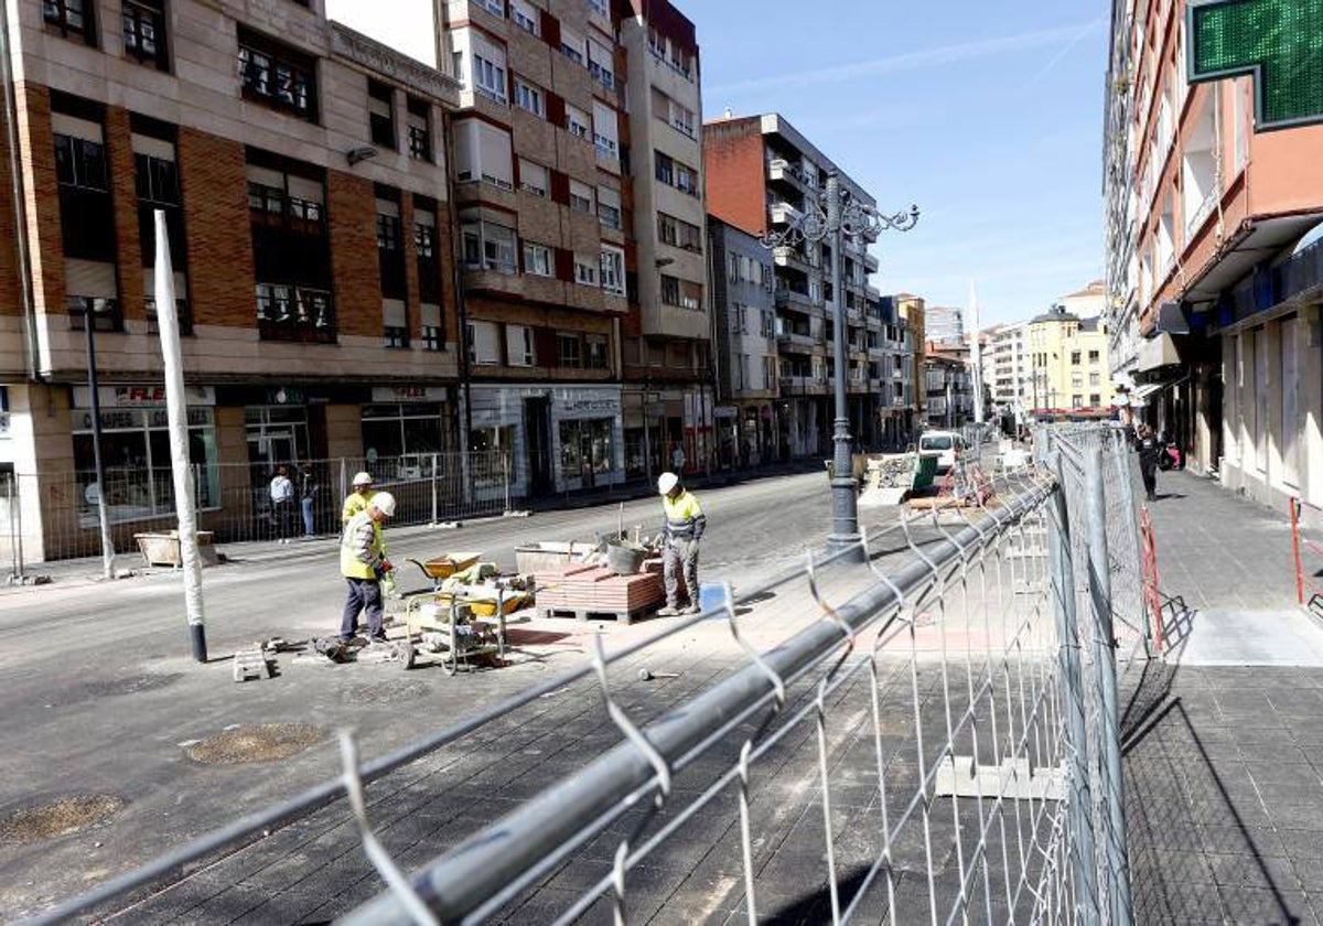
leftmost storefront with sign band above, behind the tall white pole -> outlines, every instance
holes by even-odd
[[[220,460],[216,441],[216,393],[189,386],[188,451],[194,467],[198,508],[216,508],[220,496]],[[111,523],[172,516],[175,488],[169,419],[164,386],[101,386],[101,452],[106,503]],[[73,447],[77,523],[98,523],[95,451],[93,446],[91,390],[73,388]]]

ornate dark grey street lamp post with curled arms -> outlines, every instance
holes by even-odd
[[[807,205],[803,213],[791,220],[785,232],[767,230],[762,245],[767,249],[794,247],[804,242],[818,245],[831,239],[832,245],[832,320],[835,331],[833,349],[836,353],[835,390],[836,422],[832,441],[835,443],[832,475],[832,532],[827,537],[827,552],[836,553],[853,548],[857,558],[864,558],[864,548],[859,542],[859,505],[853,468],[849,459],[849,405],[845,394],[845,296],[841,280],[844,266],[845,238],[859,242],[877,239],[880,232],[894,229],[909,232],[918,222],[918,206],[894,216],[881,216],[872,206],[860,202],[849,190],[840,185],[836,171],[827,175],[827,190],[823,205]]]

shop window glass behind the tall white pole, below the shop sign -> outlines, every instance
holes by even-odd
[[[110,409],[101,413],[105,485],[97,484],[91,413],[75,414],[74,470],[78,480],[78,523],[93,528],[98,499],[105,493],[111,521],[132,521],[175,513],[169,422],[164,407]],[[216,422],[209,407],[188,409],[188,458],[200,474],[198,508],[220,504]]]

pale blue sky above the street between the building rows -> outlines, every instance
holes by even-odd
[[[327,9],[430,60],[396,15],[415,3]],[[873,246],[882,292],[967,306],[972,283],[988,325],[1102,276],[1109,0],[672,3],[697,26],[705,119],[781,112],[878,210],[919,206]]]

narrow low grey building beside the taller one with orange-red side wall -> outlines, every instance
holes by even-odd
[[[779,344],[808,337],[778,327],[771,253],[744,229],[708,218],[717,374],[717,459],[745,467],[779,459]]]

